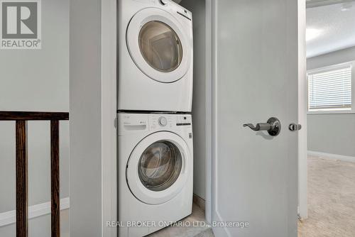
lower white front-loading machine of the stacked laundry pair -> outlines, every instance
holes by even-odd
[[[192,213],[189,114],[118,114],[119,236],[141,237]]]

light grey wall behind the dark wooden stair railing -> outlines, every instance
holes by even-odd
[[[69,111],[69,0],[42,1],[42,42],[41,50],[0,50],[0,111]],[[50,201],[49,122],[28,123],[28,180],[29,205]],[[15,182],[15,126],[0,121],[0,214],[15,209]],[[67,121],[60,123],[60,188],[68,197]]]

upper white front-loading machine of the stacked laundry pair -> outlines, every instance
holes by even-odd
[[[118,109],[192,107],[192,13],[170,0],[119,1]]]

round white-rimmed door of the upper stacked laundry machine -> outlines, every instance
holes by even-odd
[[[175,82],[190,67],[192,47],[181,23],[162,9],[138,11],[126,32],[132,60],[148,77],[158,82]]]

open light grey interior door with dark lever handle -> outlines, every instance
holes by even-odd
[[[297,236],[297,0],[212,1],[215,236]],[[278,136],[244,123],[280,120]],[[212,222],[214,226],[223,222]]]

